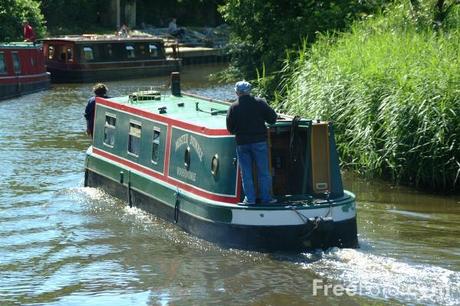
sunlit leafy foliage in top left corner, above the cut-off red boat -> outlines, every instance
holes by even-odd
[[[22,41],[22,21],[27,19],[37,37],[45,35],[44,17],[40,3],[35,0],[0,1],[0,41]]]

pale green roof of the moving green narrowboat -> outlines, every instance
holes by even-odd
[[[145,99],[145,95],[142,96],[142,94],[146,92],[141,91],[129,96],[105,98],[98,101],[102,102],[103,105],[142,117],[150,117],[165,122],[174,120],[197,128],[226,131],[226,115],[231,102],[189,93],[174,96],[163,92],[158,92],[161,95],[160,98],[157,95],[158,100]],[[278,118],[276,126],[290,125],[291,121],[292,117],[282,115]],[[302,123],[304,122],[311,122],[311,120],[302,119]]]

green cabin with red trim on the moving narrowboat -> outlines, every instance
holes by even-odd
[[[228,106],[159,92],[98,98],[93,152],[197,196],[236,204],[242,188],[234,136],[225,126]],[[281,116],[267,132],[275,197],[343,195],[330,123]]]

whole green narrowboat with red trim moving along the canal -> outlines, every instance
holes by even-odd
[[[224,247],[357,247],[355,196],[342,186],[330,122],[267,126],[276,204],[246,206],[227,102],[144,91],[97,98],[85,186],[98,187]]]

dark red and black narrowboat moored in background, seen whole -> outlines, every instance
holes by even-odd
[[[169,75],[180,59],[166,56],[161,38],[148,35],[72,35],[43,39],[52,82],[97,82]]]

